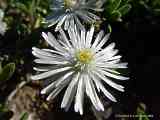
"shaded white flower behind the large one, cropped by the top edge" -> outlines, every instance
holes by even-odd
[[[101,8],[105,0],[54,0],[53,15],[46,18],[49,27],[57,24],[55,31],[61,26],[67,30],[70,26],[77,25],[84,29],[81,20],[87,23],[95,23],[100,18],[93,13],[103,11]]]

